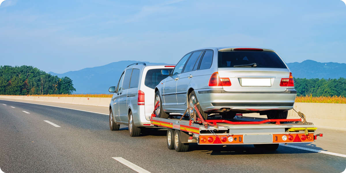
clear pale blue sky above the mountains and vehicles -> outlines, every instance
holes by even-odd
[[[346,5],[310,1],[6,0],[0,65],[64,73],[121,60],[177,63],[212,46],[345,63]]]

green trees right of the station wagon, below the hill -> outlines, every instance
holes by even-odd
[[[301,79],[294,78],[294,88],[297,95],[320,97],[320,96],[343,96],[346,97],[346,79]]]

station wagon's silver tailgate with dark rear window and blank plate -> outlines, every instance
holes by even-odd
[[[281,78],[289,78],[290,71],[282,59],[269,49],[233,48],[218,52],[220,78],[229,78],[229,92],[283,92]]]

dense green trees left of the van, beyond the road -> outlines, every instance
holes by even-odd
[[[1,95],[71,94],[76,89],[68,77],[59,78],[33,66],[0,65]]]

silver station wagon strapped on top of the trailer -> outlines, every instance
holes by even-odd
[[[234,118],[260,113],[286,119],[297,91],[292,73],[272,49],[212,47],[186,54],[155,88],[156,117],[184,113],[197,103],[204,119],[211,113]],[[198,104],[199,103],[199,104]],[[192,111],[192,110],[190,110]]]

